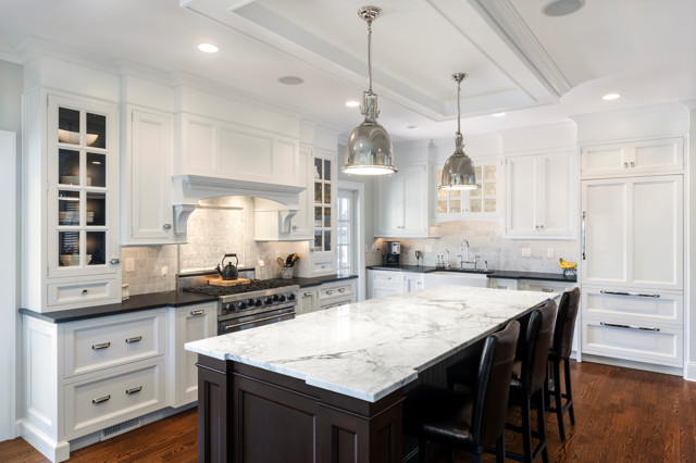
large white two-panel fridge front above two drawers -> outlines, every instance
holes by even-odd
[[[583,284],[683,289],[681,175],[584,180],[582,210]]]

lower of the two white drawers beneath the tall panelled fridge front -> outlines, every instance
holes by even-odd
[[[642,327],[629,325],[625,322],[583,318],[582,341],[583,353],[682,366],[683,330],[681,328]]]

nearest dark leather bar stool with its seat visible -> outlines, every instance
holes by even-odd
[[[403,431],[419,438],[420,462],[425,462],[427,440],[469,450],[473,462],[495,443],[496,460],[505,461],[509,378],[519,335],[520,324],[510,322],[486,338],[473,395],[428,385],[407,392]]]

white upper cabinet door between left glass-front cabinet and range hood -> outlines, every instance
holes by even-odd
[[[174,242],[172,226],[172,116],[126,108],[122,158],[123,245]]]

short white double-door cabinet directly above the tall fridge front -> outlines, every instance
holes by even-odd
[[[684,139],[586,146],[581,151],[581,159],[583,177],[680,172],[684,167]]]

